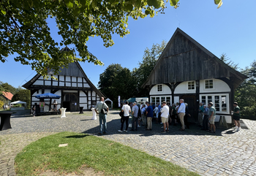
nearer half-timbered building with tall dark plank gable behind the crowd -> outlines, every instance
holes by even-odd
[[[213,102],[217,110],[215,121],[225,116],[227,123],[232,123],[234,90],[245,79],[244,74],[177,28],[143,88],[149,88],[152,103],[184,99],[195,120],[200,102]]]

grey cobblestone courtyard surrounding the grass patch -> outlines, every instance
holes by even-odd
[[[61,131],[97,134],[99,121],[91,120],[92,113],[67,113],[37,116],[12,115],[12,129],[0,131],[0,176],[15,175],[15,156],[29,143]],[[132,148],[157,156],[165,161],[197,172],[200,175],[256,175],[256,122],[243,120],[249,129],[235,132],[233,129],[217,129],[217,134],[200,131],[191,126],[178,131],[179,126],[170,126],[170,132],[161,134],[161,125],[153,123],[152,131],[143,126],[138,131],[118,133],[118,111],[108,115],[108,134],[100,136],[129,145]]]

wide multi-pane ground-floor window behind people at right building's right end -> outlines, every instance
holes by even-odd
[[[216,112],[221,113],[228,113],[228,94],[222,94],[222,95],[200,95],[200,102],[203,102],[203,104],[208,104],[209,102],[212,102],[214,104],[214,107],[216,109]]]

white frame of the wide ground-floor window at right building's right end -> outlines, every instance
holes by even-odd
[[[219,102],[219,111],[216,110],[217,113],[222,114],[230,114],[230,101],[229,101],[229,94],[228,93],[218,93],[218,94],[200,94],[200,102],[202,102],[202,96],[206,96],[206,102],[203,102],[204,104],[208,104],[208,96],[211,96],[212,103],[215,107],[215,96],[219,96],[219,100],[221,101],[222,96],[226,96],[226,109],[227,111],[222,112],[222,102]]]

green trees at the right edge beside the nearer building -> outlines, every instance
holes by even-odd
[[[236,88],[235,100],[241,109],[241,116],[256,120],[256,61],[242,70],[248,78]]]

